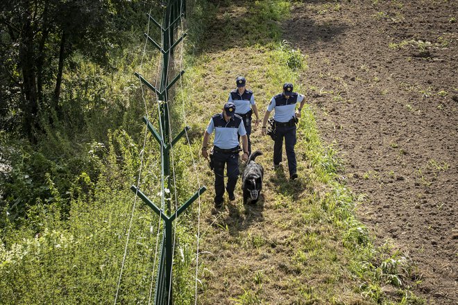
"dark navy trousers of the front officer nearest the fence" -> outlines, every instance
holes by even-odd
[[[228,184],[226,189],[229,194],[235,191],[235,184],[239,179],[239,154],[238,153],[221,153],[213,152],[214,161],[214,202],[222,203],[224,195],[224,167],[227,164],[226,176]]]

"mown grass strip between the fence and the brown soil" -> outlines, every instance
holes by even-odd
[[[201,2],[207,7],[209,3]],[[187,58],[183,120],[203,132],[220,112],[243,75],[253,89],[262,117],[283,82],[305,93],[298,77],[307,55],[291,48],[280,23],[288,19],[289,1],[220,1],[205,10],[208,24],[200,49]],[[177,101],[180,103],[180,101]],[[422,304],[409,291],[415,268],[390,245],[375,248],[368,230],[354,216],[359,199],[339,175],[339,157],[323,143],[314,107],[303,110],[298,127],[299,179],[290,182],[283,167],[273,170],[273,141],[254,128],[253,150],[266,169],[263,200],[244,206],[241,191],[223,211],[212,208],[213,189],[201,206],[199,304]],[[193,147],[198,155],[201,138]],[[203,159],[200,182],[212,186]]]

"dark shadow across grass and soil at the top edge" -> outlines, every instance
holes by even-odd
[[[274,7],[275,3],[270,1],[260,1],[257,4],[260,8],[257,9],[253,9],[254,5],[251,1],[241,0],[211,3],[205,8],[205,15],[201,16],[206,19],[205,28],[190,26],[188,29],[188,39],[194,46],[194,55],[255,45],[269,46],[283,41],[293,45],[303,40],[307,40],[307,44],[333,42],[348,28],[346,24],[334,21],[318,24],[304,15],[287,20],[291,17],[282,18],[278,8]]]

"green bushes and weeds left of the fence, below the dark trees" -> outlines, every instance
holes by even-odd
[[[106,56],[105,62],[92,56],[96,48],[88,49],[90,44],[68,53],[58,103],[53,100],[55,83],[43,82],[35,127],[29,130],[33,141],[21,125],[26,118],[25,109],[18,107],[24,98],[17,94],[21,88],[1,80],[0,304],[114,300],[129,231],[126,220],[133,211],[129,186],[137,182],[140,151],[144,149],[144,166],[151,166],[151,171],[158,169],[159,155],[149,145],[142,147],[145,106],[133,76],[142,57],[144,13],[150,7],[142,1],[124,2],[111,1],[109,34],[114,37],[107,53],[100,54]],[[2,18],[13,12],[3,9]],[[3,21],[5,50],[14,37],[7,37]],[[60,28],[54,30],[51,34],[59,37]],[[46,42],[44,48],[49,58],[56,56],[53,43]],[[3,66],[1,73],[12,71],[21,82],[22,71],[14,64],[19,58],[6,58],[8,54],[2,53],[1,60],[13,63]],[[146,54],[144,73],[153,74],[155,54]],[[57,76],[54,64],[51,60],[43,70],[48,80]],[[150,115],[155,116],[154,111],[153,107]],[[158,192],[157,176],[146,171],[142,182],[149,187],[146,192]],[[158,225],[158,218],[137,202],[120,302],[149,297]]]

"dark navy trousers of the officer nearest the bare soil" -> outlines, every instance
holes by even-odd
[[[273,143],[273,164],[282,162],[282,146],[283,138],[285,138],[285,150],[288,159],[289,176],[297,171],[296,153],[294,146],[296,145],[296,125],[291,127],[276,127],[276,139]]]

